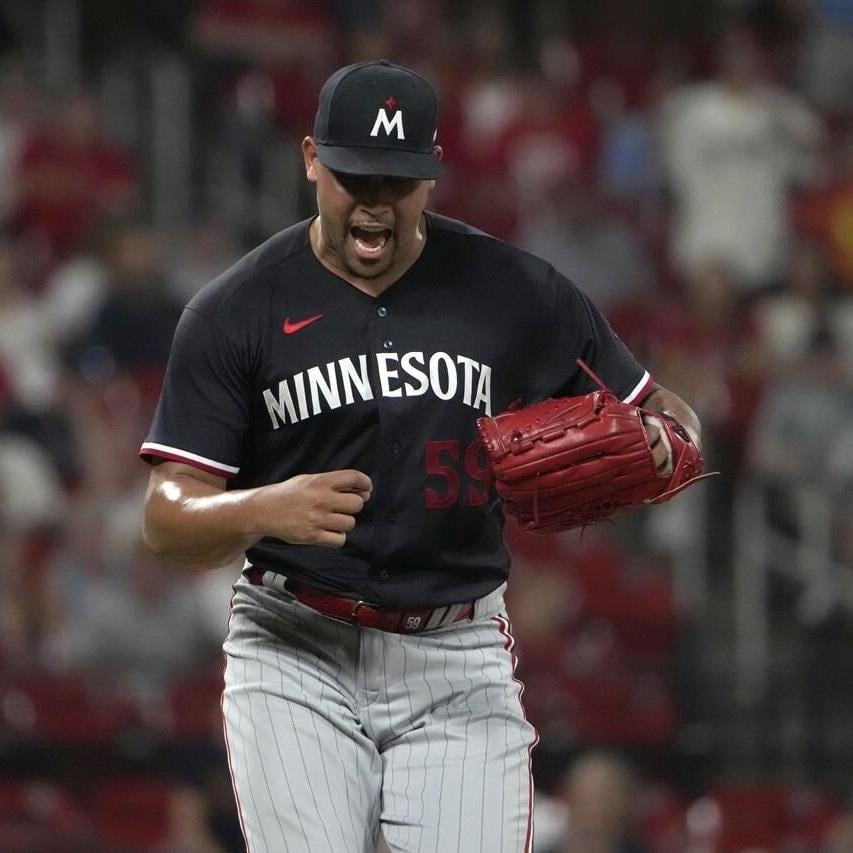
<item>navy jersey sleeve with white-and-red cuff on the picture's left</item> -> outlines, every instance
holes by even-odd
[[[249,419],[247,358],[212,320],[185,308],[163,390],[139,454],[230,478],[240,470]]]

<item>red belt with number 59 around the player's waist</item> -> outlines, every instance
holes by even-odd
[[[264,586],[263,569],[251,566],[243,574],[248,578],[249,583]],[[461,619],[471,619],[474,615],[473,601],[423,610],[386,610],[367,601],[342,598],[323,592],[301,581],[287,580],[284,587],[298,602],[323,616],[337,619],[339,622],[347,622],[359,628],[376,628],[392,634],[417,634],[426,630],[427,626],[440,628],[442,625],[459,622]]]

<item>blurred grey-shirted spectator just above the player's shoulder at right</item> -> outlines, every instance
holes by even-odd
[[[518,245],[574,281],[605,313],[643,294],[654,274],[636,234],[607,211],[588,181],[571,178],[540,190],[518,235]]]

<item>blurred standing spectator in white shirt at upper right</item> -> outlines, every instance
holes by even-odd
[[[777,281],[788,192],[809,177],[822,137],[815,114],[772,85],[766,65],[751,37],[732,31],[717,78],[676,90],[662,116],[673,259],[688,274],[725,264],[744,293]]]

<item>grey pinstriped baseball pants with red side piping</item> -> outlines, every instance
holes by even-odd
[[[506,619],[360,629],[235,587],[223,713],[251,853],[528,853],[533,727]]]

